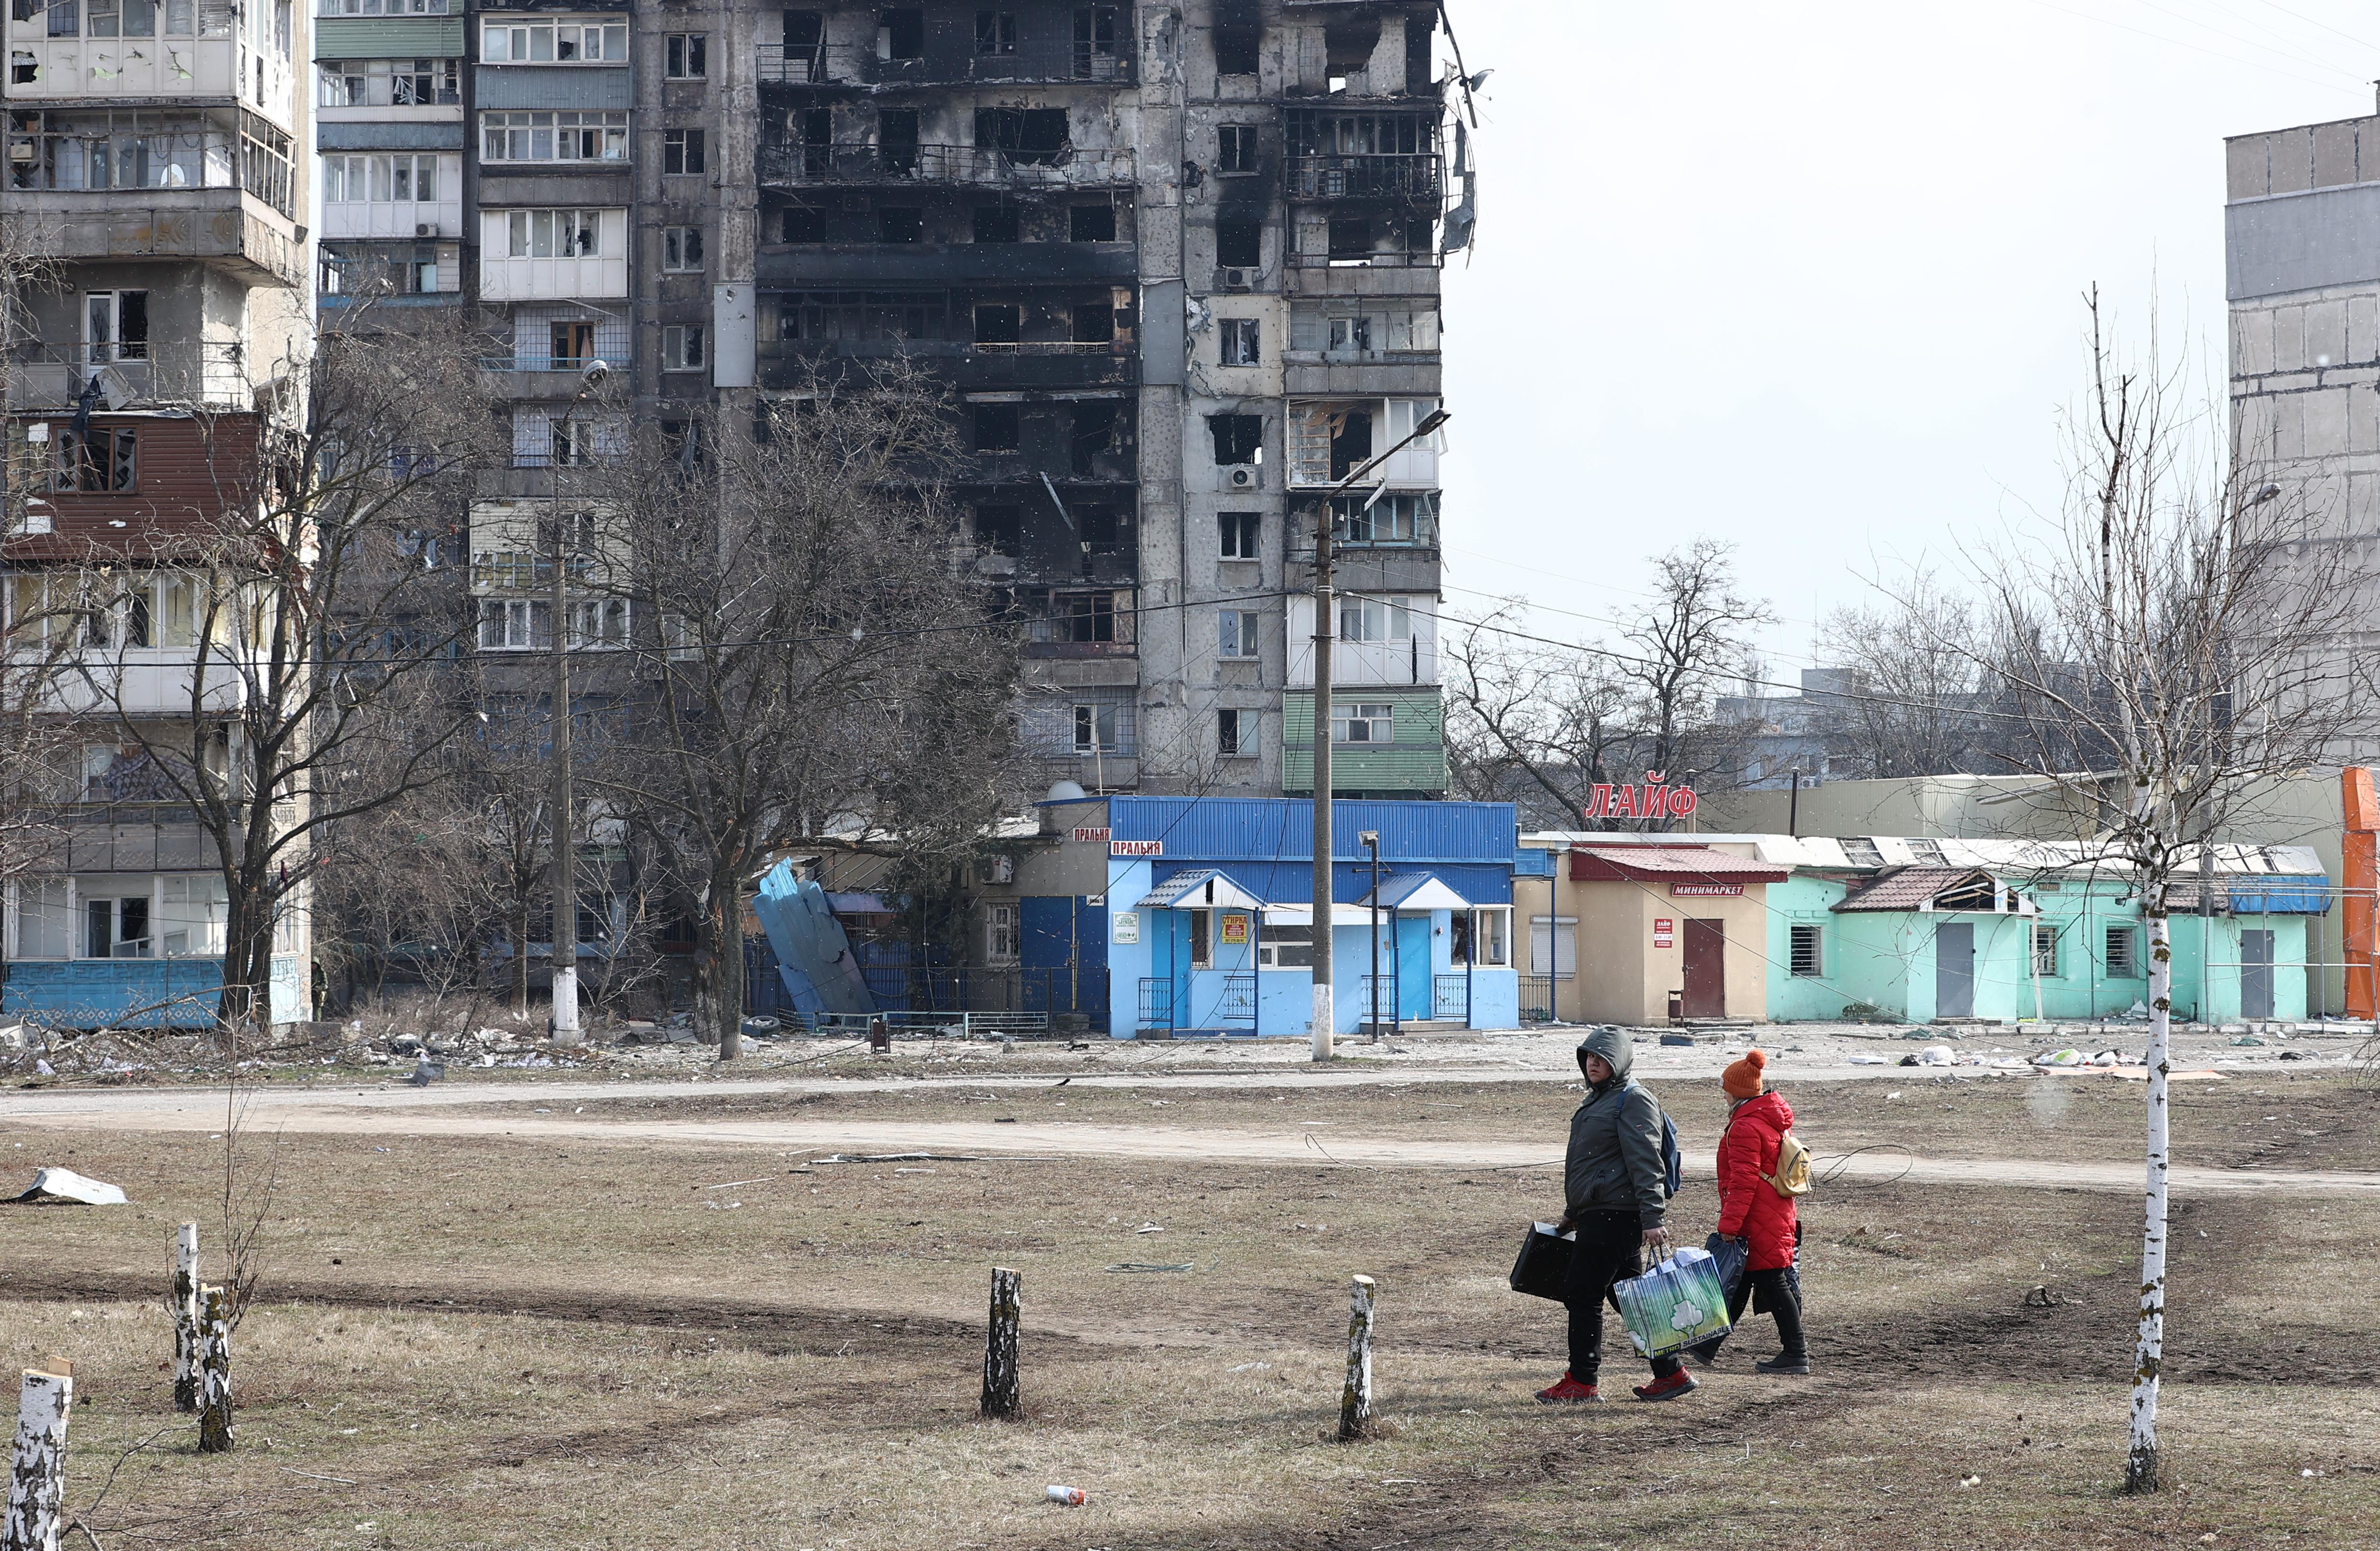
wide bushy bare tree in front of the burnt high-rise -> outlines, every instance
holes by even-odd
[[[595,785],[697,921],[697,1018],[740,1047],[743,904],[771,852],[897,835],[964,854],[1007,797],[1014,628],[957,576],[947,393],[904,362],[647,435],[593,471],[635,685]]]

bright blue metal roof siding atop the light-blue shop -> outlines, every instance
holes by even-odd
[[[1314,806],[1288,797],[1109,797],[1107,823],[1116,840],[1161,840],[1166,856],[1314,854]],[[1507,873],[1521,833],[1518,809],[1509,802],[1338,802],[1330,854],[1361,859],[1361,830],[1380,833],[1383,861],[1483,861]]]

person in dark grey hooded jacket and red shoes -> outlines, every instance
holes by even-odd
[[[1642,1251],[1668,1247],[1668,1170],[1661,1163],[1661,1101],[1628,1078],[1628,1032],[1597,1028],[1578,1044],[1585,1101],[1571,1116],[1564,1166],[1561,1232],[1578,1232],[1561,1301],[1571,1311],[1571,1370],[1540,1389],[1547,1404],[1595,1401],[1604,1363],[1604,1299],[1614,1282],[1645,1270]],[[1652,1358],[1640,1401],[1668,1401],[1695,1389],[1676,1356]]]

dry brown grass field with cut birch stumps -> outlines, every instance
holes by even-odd
[[[1716,1094],[1666,1099],[1690,1139],[1716,1130]],[[1795,1101],[1821,1154],[2137,1156],[2137,1085],[1911,1073]],[[645,1104],[581,1118],[657,1113]],[[2175,1484],[2130,1501],[2113,1480],[2132,1197],[1844,1180],[1806,1206],[1814,1377],[1754,1375],[1775,1337],[1752,1320],[1685,1401],[1549,1411],[1530,1392],[1561,1370],[1561,1311],[1504,1273],[1521,1225],[1557,1206],[1552,1170],[1340,1168],[1321,1149],[1435,1128],[1542,1137],[1557,1156],[1576,1097],[1554,1085],[988,1099],[719,1085],[662,1104],[1314,1123],[1319,1151],[1311,1166],[812,1163],[407,1137],[402,1116],[364,1137],[248,1135],[248,1178],[271,1161],[278,1189],[267,1282],[236,1337],[240,1446],[198,1456],[181,1430],[124,1458],[93,1513],[100,1544],[2380,1549],[2370,1197],[2180,1204]],[[2175,1104],[2187,1161],[2375,1161],[2375,1101],[2340,1080],[2209,1085]],[[76,1361],[69,1503],[86,1506],[131,1444],[181,1420],[167,1244],[186,1218],[219,1237],[224,1142],[12,1128],[0,1156],[133,1197],[0,1206],[0,1339],[19,1363]],[[1678,1223],[1699,1237],[1711,1216],[1709,1185],[1690,1182]],[[976,1418],[995,1263],[1023,1273],[1019,1423]],[[1121,1270],[1135,1263],[1188,1270]],[[1340,1446],[1326,1439],[1352,1273],[1380,1285],[1385,1425]],[[2033,1287],[2052,1306],[2028,1306]],[[1640,1373],[1614,1361],[1606,1389]],[[1090,1503],[1045,1506],[1050,1482]]]

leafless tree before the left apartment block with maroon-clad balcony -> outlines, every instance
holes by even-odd
[[[469,621],[438,538],[459,530],[495,450],[481,352],[459,326],[343,314],[309,359],[283,362],[257,414],[200,414],[209,500],[121,554],[67,557],[121,578],[98,609],[145,611],[188,652],[162,714],[124,657],[129,630],[90,640],[79,673],[143,790],[188,804],[221,866],[231,1030],[269,1016],[276,930],[305,909],[314,837],[438,780],[471,714],[407,690]]]

